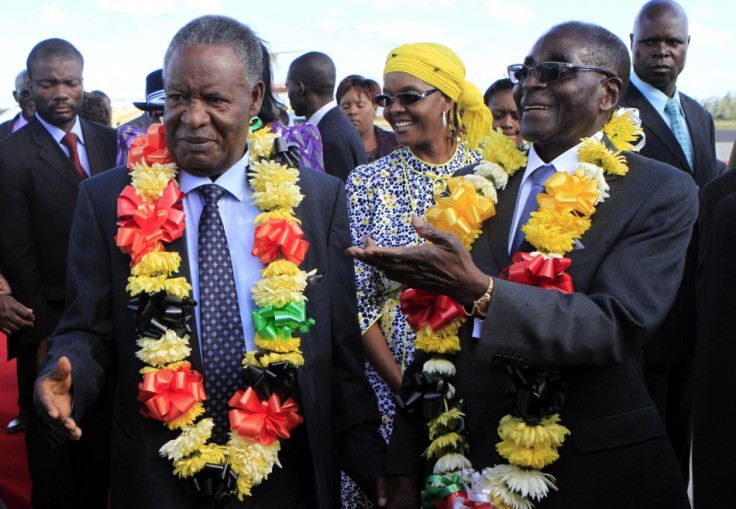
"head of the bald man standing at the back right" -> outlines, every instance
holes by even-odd
[[[634,20],[631,53],[634,72],[645,83],[672,97],[685,68],[690,44],[687,14],[677,2],[652,0]]]

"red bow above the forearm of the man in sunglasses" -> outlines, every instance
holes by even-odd
[[[518,252],[514,254],[513,262],[501,271],[501,279],[563,293],[575,291],[570,274],[565,272],[572,263],[569,258],[547,258],[541,253]]]

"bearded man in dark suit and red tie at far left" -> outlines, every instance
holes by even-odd
[[[67,246],[79,183],[115,161],[115,131],[77,116],[83,66],[82,55],[69,42],[38,43],[27,61],[36,116],[0,142],[0,265],[14,297],[35,315],[33,327],[8,340],[10,354],[18,357],[18,405],[26,413],[33,407],[33,382],[46,338],[64,311]],[[58,507],[58,499],[72,494],[78,505],[104,506],[109,448],[109,417],[105,422],[104,414],[100,403],[88,415],[85,440],[56,448],[40,421],[29,419],[26,447],[34,507]]]

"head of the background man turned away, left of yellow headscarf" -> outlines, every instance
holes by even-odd
[[[294,112],[309,117],[330,102],[335,77],[335,64],[324,53],[311,51],[294,60],[286,75],[289,102]]]

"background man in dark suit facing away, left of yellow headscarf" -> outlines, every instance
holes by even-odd
[[[353,168],[368,163],[358,130],[333,99],[335,64],[330,57],[312,51],[294,60],[286,87],[294,113],[319,129],[326,173],[344,182]]]

